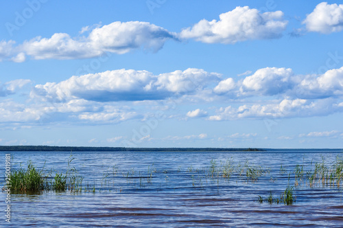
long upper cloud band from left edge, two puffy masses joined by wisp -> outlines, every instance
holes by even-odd
[[[170,39],[233,44],[279,38],[286,25],[283,12],[260,13],[248,6],[220,14],[220,21],[202,20],[180,33],[143,21],[115,21],[102,27],[82,27],[77,37],[55,33],[50,38],[37,36],[16,46],[14,41],[1,41],[0,61],[23,62],[27,56],[36,60],[93,58],[104,53],[125,54],[133,49],[157,52]]]

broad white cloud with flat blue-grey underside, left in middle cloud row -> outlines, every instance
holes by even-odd
[[[32,96],[45,97],[48,100],[139,100],[144,99],[145,89],[152,80],[152,73],[119,69],[102,73],[90,73],[84,76],[72,76],[62,82],[38,84]]]

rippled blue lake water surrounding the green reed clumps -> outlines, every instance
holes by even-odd
[[[45,173],[66,172],[70,152],[1,152],[12,169],[32,160]],[[73,152],[70,168],[82,190],[11,194],[14,227],[342,227],[343,180],[322,184],[307,176],[328,168],[341,150],[267,152]],[[337,158],[338,157],[338,158]],[[324,159],[324,163],[323,163]],[[296,166],[303,176],[296,179]],[[230,177],[223,177],[224,167]],[[247,170],[257,176],[247,176]],[[319,176],[319,174],[317,175]],[[294,187],[295,202],[259,203]],[[5,222],[5,192],[0,224]]]

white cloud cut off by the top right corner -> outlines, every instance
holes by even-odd
[[[343,4],[319,3],[303,21],[309,32],[329,34],[343,30]]]

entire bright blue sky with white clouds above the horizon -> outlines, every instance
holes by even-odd
[[[1,1],[0,144],[343,148],[339,1]]]

